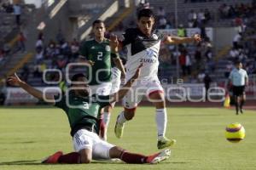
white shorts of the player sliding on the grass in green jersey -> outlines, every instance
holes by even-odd
[[[92,150],[93,160],[109,160],[109,150],[114,147],[113,144],[99,138],[96,133],[92,133],[86,129],[80,129],[73,135],[74,150],[90,149]]]

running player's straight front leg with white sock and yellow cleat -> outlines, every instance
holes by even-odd
[[[156,91],[149,94],[148,98],[152,101],[153,105],[156,108],[155,122],[157,125],[158,133],[158,149],[163,149],[170,147],[176,143],[174,139],[166,138],[166,124],[167,124],[167,114],[166,114],[166,101],[163,92]]]

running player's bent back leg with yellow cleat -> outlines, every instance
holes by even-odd
[[[125,108],[125,110],[122,111],[117,117],[117,120],[114,126],[114,133],[117,138],[120,139],[123,137],[125,122],[130,121],[134,117],[135,111],[136,111],[136,108],[134,109]]]

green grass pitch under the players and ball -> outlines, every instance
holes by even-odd
[[[123,139],[116,139],[113,126],[116,107],[108,128],[108,141],[127,150],[151,154],[156,148],[153,107],[139,107],[134,120],[126,123]],[[56,150],[73,151],[67,117],[55,108],[0,109],[1,170],[95,170],[95,169],[227,169],[256,168],[256,111],[214,108],[168,108],[166,136],[177,139],[169,160],[158,165],[128,165],[93,161],[90,165],[42,165],[40,161]],[[232,144],[224,138],[224,128],[240,122],[246,139]]]

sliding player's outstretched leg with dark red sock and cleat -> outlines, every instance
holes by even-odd
[[[159,163],[171,156],[171,150],[162,150],[159,153],[155,153],[151,156],[143,156],[142,154],[131,153],[127,150],[114,146],[109,150],[109,156],[111,158],[119,158],[126,163],[143,164],[143,163]]]

